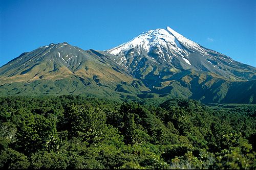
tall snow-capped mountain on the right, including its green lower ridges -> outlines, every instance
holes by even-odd
[[[146,31],[110,50],[151,89],[205,103],[255,103],[256,68],[209,50],[167,27]]]

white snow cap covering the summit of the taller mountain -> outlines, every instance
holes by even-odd
[[[207,51],[201,47],[201,45],[185,38],[181,34],[177,33],[173,29],[167,27],[166,29],[156,29],[143,32],[132,40],[123,43],[117,47],[114,47],[106,52],[119,56],[125,54],[127,51],[132,48],[137,48],[139,51],[145,51],[146,53],[150,52],[153,47],[159,48],[159,54],[164,54],[163,51],[170,51],[173,53],[173,57],[182,56],[186,57],[191,52],[199,52],[206,55]],[[185,50],[186,48],[186,50]],[[165,60],[166,56],[163,57]],[[167,56],[172,60],[172,56]]]

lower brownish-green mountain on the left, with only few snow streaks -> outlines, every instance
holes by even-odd
[[[103,52],[83,51],[67,42],[41,46],[0,68],[2,95],[75,94],[120,98],[141,91],[149,89],[104,57]]]

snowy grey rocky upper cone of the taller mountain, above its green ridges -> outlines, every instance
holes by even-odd
[[[170,29],[144,32],[134,39],[106,52],[121,59],[119,64],[137,78],[154,77],[154,71],[172,68],[178,71],[195,69],[224,76],[230,80],[256,79],[256,68],[209,50]],[[160,67],[160,68],[159,68]],[[158,73],[156,74],[158,75]],[[159,74],[162,79],[166,74]],[[158,77],[158,76],[156,76]]]

